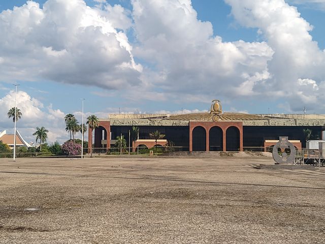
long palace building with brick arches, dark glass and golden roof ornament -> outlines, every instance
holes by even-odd
[[[311,139],[321,139],[324,124],[325,115],[322,114],[223,112],[221,103],[213,100],[210,111],[205,113],[110,114],[100,119],[98,128],[88,130],[88,150],[92,133],[94,148],[110,149],[121,134],[128,142],[133,126],[139,128],[139,139],[131,144],[133,151],[138,145],[151,148],[170,142],[176,150],[182,151],[266,151],[279,136],[288,136],[300,149],[306,146],[304,130],[311,130]],[[155,143],[149,136],[154,131],[164,134],[164,139]]]

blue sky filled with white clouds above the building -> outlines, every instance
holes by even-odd
[[[0,130],[64,115],[325,113],[325,0],[0,0]],[[77,135],[77,137],[80,135]]]

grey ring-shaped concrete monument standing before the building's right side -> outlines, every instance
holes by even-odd
[[[281,148],[282,154],[279,155],[278,148]],[[290,154],[285,153],[285,149],[290,148]],[[296,158],[296,148],[293,143],[289,142],[287,136],[280,136],[279,141],[274,145],[272,156],[276,164],[292,164]]]

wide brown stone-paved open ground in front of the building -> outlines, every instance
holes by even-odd
[[[0,159],[0,243],[325,243],[325,168]]]

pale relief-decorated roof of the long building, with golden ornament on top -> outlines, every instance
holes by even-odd
[[[325,126],[325,114],[248,114],[222,112],[213,100],[209,112],[188,114],[110,114],[112,126],[188,126],[190,121],[242,121],[243,126]]]

